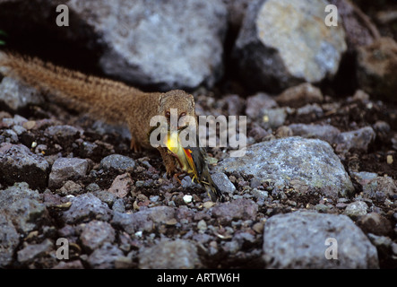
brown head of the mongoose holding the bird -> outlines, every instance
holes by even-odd
[[[178,128],[186,126],[189,120],[194,119],[195,122],[194,97],[186,91],[168,91],[160,97],[158,114],[167,118],[168,125],[177,125]],[[184,118],[180,120],[181,117]]]

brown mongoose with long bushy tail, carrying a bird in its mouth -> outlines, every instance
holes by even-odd
[[[13,77],[39,91],[71,101],[73,108],[87,110],[110,123],[126,123],[131,132],[131,148],[151,149],[148,134],[151,117],[196,118],[194,97],[186,91],[143,92],[125,83],[86,75],[45,63],[38,58],[21,57],[0,51],[0,73]],[[166,147],[157,148],[168,176],[177,172],[177,161]]]

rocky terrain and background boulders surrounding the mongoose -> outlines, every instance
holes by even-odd
[[[246,116],[248,143],[208,149],[226,196],[212,203],[157,151],[130,151],[125,127],[0,78],[0,267],[397,267],[395,5],[248,2],[72,1],[64,29],[55,2],[0,1],[7,48],[186,88],[199,116]]]

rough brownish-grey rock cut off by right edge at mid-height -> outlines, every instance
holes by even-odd
[[[363,195],[382,202],[386,196],[393,199],[397,195],[397,186],[393,178],[376,177],[363,186]]]

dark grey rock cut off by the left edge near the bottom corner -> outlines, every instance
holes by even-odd
[[[1,193],[0,193],[1,195]],[[1,205],[1,204],[0,204]],[[1,205],[3,206],[3,205]],[[20,235],[15,230],[13,223],[0,211],[0,267],[4,268],[13,261],[15,248],[20,243]]]

